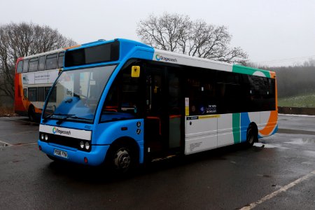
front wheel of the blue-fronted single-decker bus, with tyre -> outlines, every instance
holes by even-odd
[[[135,166],[132,147],[125,144],[113,144],[109,151],[108,165],[115,174],[126,174]]]

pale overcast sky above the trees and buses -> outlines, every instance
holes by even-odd
[[[225,25],[231,45],[245,50],[251,62],[279,66],[315,59],[314,0],[2,0],[0,24],[48,25],[77,43],[139,41],[137,23],[164,12]]]

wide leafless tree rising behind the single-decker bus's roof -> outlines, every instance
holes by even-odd
[[[188,15],[150,15],[137,26],[141,41],[154,48],[186,55],[244,64],[248,55],[241,48],[230,48],[231,34],[225,26],[190,20]]]

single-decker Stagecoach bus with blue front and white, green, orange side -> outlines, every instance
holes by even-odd
[[[126,172],[146,160],[252,146],[277,131],[274,72],[137,41],[66,50],[52,87],[38,140],[52,160]]]

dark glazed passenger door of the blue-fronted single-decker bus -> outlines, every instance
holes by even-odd
[[[167,71],[166,71],[167,70]],[[146,68],[145,148],[150,158],[180,150],[182,116],[179,77],[165,66]]]

